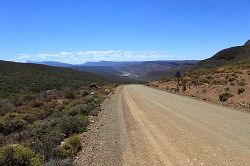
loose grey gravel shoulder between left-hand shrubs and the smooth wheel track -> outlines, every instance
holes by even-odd
[[[90,124],[89,131],[83,133],[83,149],[76,157],[74,165],[122,165],[120,131],[122,128],[121,99],[123,86],[104,100],[102,111]]]

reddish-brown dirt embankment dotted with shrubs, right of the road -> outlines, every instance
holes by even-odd
[[[174,94],[250,112],[250,71],[239,70],[232,73],[226,69],[218,69],[216,72],[218,73],[184,76],[179,86],[175,79],[154,81],[148,85]]]

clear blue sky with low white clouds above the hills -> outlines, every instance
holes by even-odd
[[[0,59],[204,59],[250,39],[249,0],[1,0]]]

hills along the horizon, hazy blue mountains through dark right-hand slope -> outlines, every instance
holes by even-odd
[[[44,61],[27,63],[43,64],[56,67],[67,67],[78,71],[87,71],[106,76],[125,77],[141,81],[152,81],[173,76],[179,70],[181,73],[191,72],[199,68],[219,67],[234,63],[250,63],[250,40],[243,46],[236,46],[219,51],[211,58],[196,61],[99,61],[86,62],[80,65]]]

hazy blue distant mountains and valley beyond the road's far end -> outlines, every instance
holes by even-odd
[[[151,80],[145,75],[152,72],[164,72],[173,67],[180,67],[183,65],[193,65],[198,61],[184,60],[184,61],[100,61],[100,62],[86,62],[80,65],[72,65],[54,61],[33,62],[27,63],[43,64],[56,67],[67,67],[78,71],[87,71],[108,76],[126,77],[136,80],[147,81]]]

